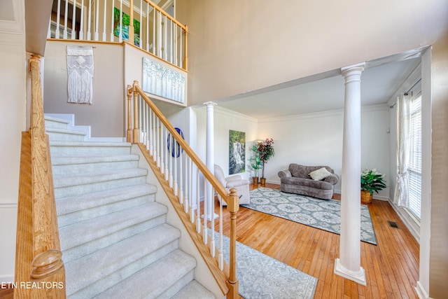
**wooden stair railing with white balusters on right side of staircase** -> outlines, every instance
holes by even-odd
[[[127,86],[127,111],[127,141],[139,144],[221,291],[228,298],[237,298],[236,221],[239,196],[236,189],[228,193],[223,188],[179,131],[141,90],[137,81]],[[200,184],[202,180],[203,186]],[[211,193],[207,193],[207,185],[212,189]],[[223,201],[215,207],[214,198],[200,200],[201,194],[204,198],[207,194],[214,197],[215,192],[227,203],[230,213],[228,264],[223,257],[224,250],[227,250],[223,244],[223,220],[227,216],[223,212]],[[211,207],[207,206],[209,204]],[[219,209],[218,218],[214,214],[216,209]],[[209,217],[205,215],[207,211],[211,211]]]

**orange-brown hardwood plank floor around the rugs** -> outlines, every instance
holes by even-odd
[[[267,183],[266,187],[280,186]],[[340,200],[340,195],[334,198]],[[367,286],[333,273],[335,258],[339,257],[339,235],[332,232],[241,207],[237,240],[316,277],[316,299],[417,298],[414,286],[419,279],[419,244],[388,202],[373,200],[368,206],[377,245],[360,242]],[[394,221],[399,228],[391,228],[387,221]]]

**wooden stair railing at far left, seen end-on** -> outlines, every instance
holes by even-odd
[[[29,68],[31,128],[22,133],[14,298],[65,298],[40,58],[31,56]]]

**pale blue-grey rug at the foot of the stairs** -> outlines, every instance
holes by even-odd
[[[215,234],[215,243],[218,242]],[[229,263],[229,238],[223,236],[223,255]],[[237,242],[239,294],[246,299],[308,299],[317,279],[260,251]]]

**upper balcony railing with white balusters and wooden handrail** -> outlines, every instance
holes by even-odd
[[[187,32],[186,25],[151,0],[54,0],[47,37],[127,41],[187,70]]]

